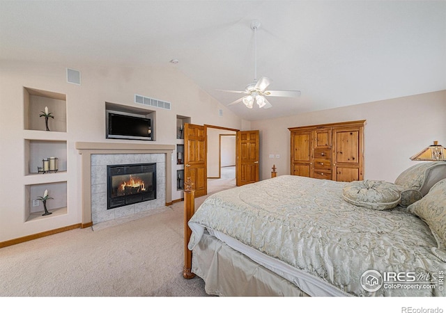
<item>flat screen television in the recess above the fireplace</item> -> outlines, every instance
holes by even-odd
[[[151,141],[151,119],[143,115],[107,111],[106,138]]]

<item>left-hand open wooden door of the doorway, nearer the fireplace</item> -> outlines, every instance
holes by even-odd
[[[184,177],[190,177],[195,197],[208,194],[206,127],[184,125]]]

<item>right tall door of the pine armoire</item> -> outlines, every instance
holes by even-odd
[[[363,179],[362,127],[333,129],[333,180],[353,182]]]

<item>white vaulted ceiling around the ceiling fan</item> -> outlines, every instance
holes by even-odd
[[[229,104],[215,90],[254,81],[253,19],[257,78],[302,95],[229,106],[246,120],[446,89],[446,1],[0,1],[0,59],[174,66]]]

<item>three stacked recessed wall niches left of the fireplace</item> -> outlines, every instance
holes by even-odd
[[[48,118],[48,129],[45,117]],[[67,208],[67,102],[66,95],[24,87],[24,222],[68,214]],[[51,158],[51,159],[50,159]],[[54,159],[52,159],[54,158]],[[48,163],[43,163],[43,159]],[[44,168],[48,166],[48,168]],[[45,172],[39,172],[47,170]],[[38,200],[48,191],[47,210]]]

